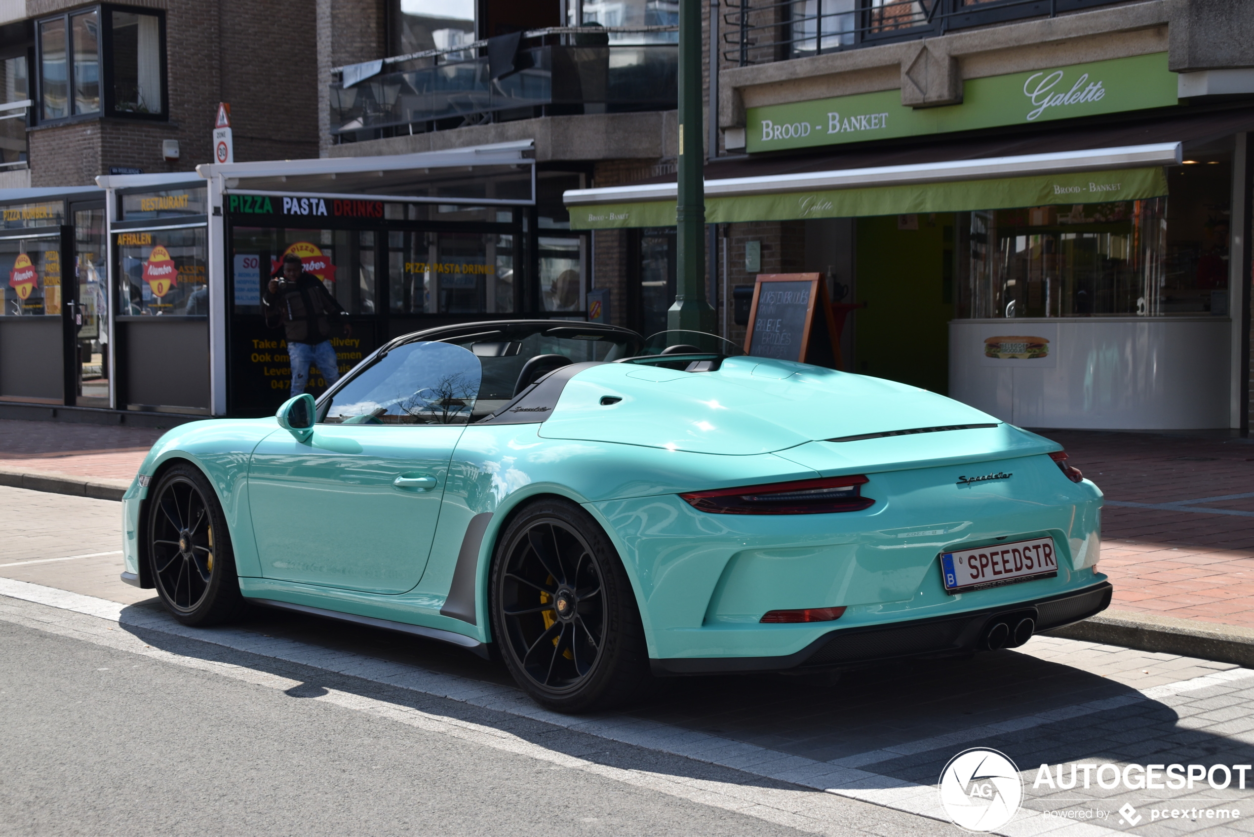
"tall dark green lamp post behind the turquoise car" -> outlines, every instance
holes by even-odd
[[[712,333],[715,312],[705,292],[701,6],[701,0],[680,0],[678,275],[666,326]]]

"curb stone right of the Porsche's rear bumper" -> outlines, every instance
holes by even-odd
[[[1157,654],[1179,654],[1254,669],[1254,627],[1107,610],[1088,619],[1042,631],[1047,636],[1117,645]]]

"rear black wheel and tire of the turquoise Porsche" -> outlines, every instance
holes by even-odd
[[[492,631],[509,673],[538,704],[578,713],[648,688],[648,649],[613,543],[577,504],[524,506],[502,532],[489,589]]]

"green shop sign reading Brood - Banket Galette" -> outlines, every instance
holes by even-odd
[[[961,104],[910,108],[879,90],[749,108],[749,153],[1033,124],[1178,104],[1167,54],[1115,58],[963,83]]]

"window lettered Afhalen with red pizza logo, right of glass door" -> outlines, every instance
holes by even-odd
[[[206,231],[118,232],[118,312],[124,316],[208,316]]]

